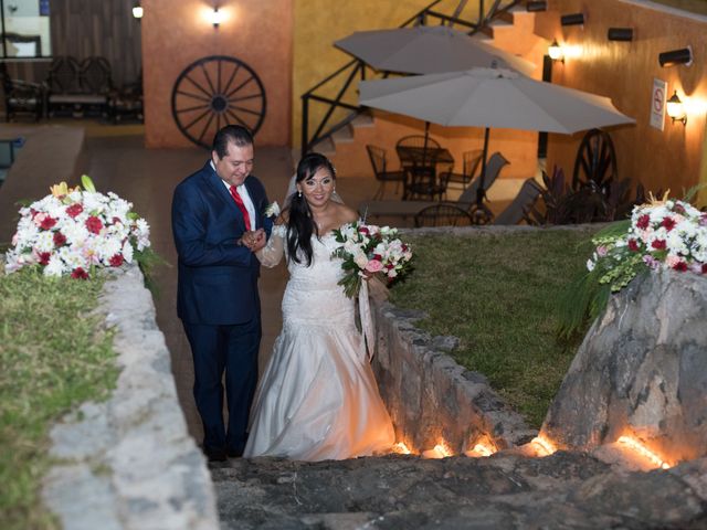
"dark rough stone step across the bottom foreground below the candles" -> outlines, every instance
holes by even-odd
[[[704,528],[707,462],[626,473],[584,453],[528,458],[261,457],[211,467],[223,528]],[[700,489],[701,488],[701,489]]]

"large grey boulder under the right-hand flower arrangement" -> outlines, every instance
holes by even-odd
[[[581,451],[629,435],[668,464],[707,456],[706,315],[706,277],[635,278],[587,333],[542,433]]]

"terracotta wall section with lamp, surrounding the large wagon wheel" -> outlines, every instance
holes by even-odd
[[[293,8],[288,0],[223,0],[226,20],[214,29],[204,18],[212,2],[143,0],[145,139],[147,147],[189,147],[171,112],[171,92],[193,61],[229,55],[244,61],[265,87],[267,112],[261,146],[289,142]],[[211,138],[208,139],[210,142]]]

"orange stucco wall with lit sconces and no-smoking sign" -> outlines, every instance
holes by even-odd
[[[705,163],[705,110],[707,109],[707,44],[705,17],[677,15],[621,0],[555,0],[536,18],[536,32],[571,47],[572,56],[553,67],[553,82],[611,97],[635,126],[611,131],[616,147],[620,177],[641,181],[647,190],[672,190],[707,181]],[[559,24],[561,14],[583,12],[582,26]],[[633,28],[632,42],[610,42],[609,28]],[[694,64],[661,67],[658,54],[692,45]],[[677,89],[687,103],[687,126],[672,124],[664,130],[651,127],[653,80],[667,82],[667,95]],[[571,173],[581,134],[550,135],[548,167],[553,163]],[[704,193],[703,197],[707,198]]]

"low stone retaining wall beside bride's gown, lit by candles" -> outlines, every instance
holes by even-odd
[[[399,441],[414,452],[445,444],[460,454],[479,441],[504,449],[537,434],[481,373],[447,354],[458,339],[431,337],[414,327],[423,314],[395,308],[380,295],[373,298],[373,371]]]

